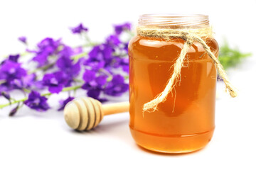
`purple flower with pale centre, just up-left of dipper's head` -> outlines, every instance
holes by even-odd
[[[43,85],[48,86],[48,91],[53,94],[58,94],[60,91],[62,91],[66,82],[66,77],[63,72],[46,74],[43,77]]]

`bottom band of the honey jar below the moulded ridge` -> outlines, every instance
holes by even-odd
[[[151,135],[130,128],[132,137],[137,145],[154,152],[178,154],[194,152],[206,147],[213,137],[213,130],[193,135]]]

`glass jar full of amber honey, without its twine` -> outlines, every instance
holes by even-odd
[[[208,16],[142,15],[144,28],[208,28]],[[218,43],[204,38],[218,56]],[[185,40],[136,35],[129,42],[129,128],[135,142],[156,152],[193,152],[205,147],[215,128],[215,65],[199,42],[193,42],[181,69],[180,81],[154,112],[144,103],[164,90]]]

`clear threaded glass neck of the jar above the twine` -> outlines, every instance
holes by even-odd
[[[208,28],[205,15],[144,14],[139,17],[139,26],[148,28],[197,29]]]

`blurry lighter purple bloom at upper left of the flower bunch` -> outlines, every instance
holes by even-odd
[[[53,38],[45,38],[38,43],[38,51],[33,61],[38,62],[39,66],[48,63],[48,57],[54,55],[58,51],[58,47],[62,45],[60,40],[53,40]]]

